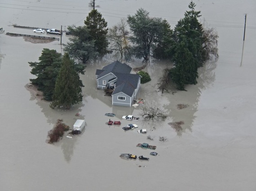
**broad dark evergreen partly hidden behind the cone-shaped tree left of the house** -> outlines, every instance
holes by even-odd
[[[42,55],[39,57],[40,62],[29,62],[31,74],[37,76],[35,79],[30,79],[33,85],[38,87],[39,91],[44,94],[44,99],[51,101],[55,87],[57,74],[61,67],[61,53],[56,50],[44,48]]]

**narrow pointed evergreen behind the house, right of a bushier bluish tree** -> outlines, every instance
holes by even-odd
[[[107,40],[107,22],[102,17],[102,14],[97,11],[97,9],[92,10],[86,20],[84,21],[86,28],[89,30],[91,35],[91,40],[95,41],[95,47],[99,56],[102,58],[104,55],[109,53],[107,50],[108,40]]]

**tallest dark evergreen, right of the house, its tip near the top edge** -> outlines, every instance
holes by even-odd
[[[195,11],[194,7],[191,1],[190,11],[186,11],[185,17],[178,21],[173,33],[174,68],[171,69],[171,78],[181,90],[185,90],[187,84],[197,83],[197,69],[203,64],[203,27],[198,21],[200,11]]]

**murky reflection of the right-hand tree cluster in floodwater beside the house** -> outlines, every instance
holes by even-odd
[[[157,90],[157,81],[163,69],[170,68],[171,66],[172,64],[169,62],[152,60],[145,68],[146,72],[150,74],[151,82],[150,84],[142,85],[140,96],[145,98],[147,102],[154,102],[163,106],[168,115],[168,119],[166,119],[165,123],[183,121],[184,124],[181,125],[181,128],[174,129],[177,132],[177,136],[182,136],[183,132],[192,132],[192,126],[196,118],[194,114],[197,111],[202,90],[210,88],[215,81],[216,61],[207,62],[202,68],[199,68],[198,84],[188,85],[186,87],[187,92],[176,90],[177,93],[164,91],[162,94],[160,90]],[[178,104],[187,104],[189,106],[187,108],[178,109]],[[148,122],[148,125],[150,125],[151,128],[161,127],[160,124],[155,126],[154,123],[159,122],[151,120],[150,124]],[[171,126],[168,125],[168,127]]]

